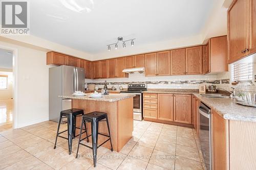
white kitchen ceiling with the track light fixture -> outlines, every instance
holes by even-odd
[[[30,0],[31,35],[99,54],[118,36],[146,45],[199,35],[214,2]]]

